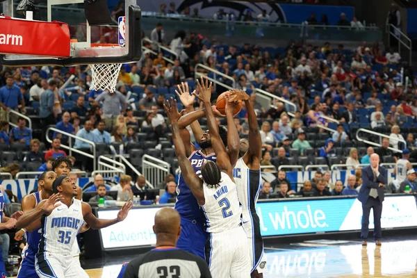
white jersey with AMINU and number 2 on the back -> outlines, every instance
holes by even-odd
[[[222,172],[218,186],[203,184],[204,206],[201,206],[206,217],[206,231],[220,233],[239,227],[241,224],[242,208],[236,193],[236,183],[231,181],[228,174]]]

